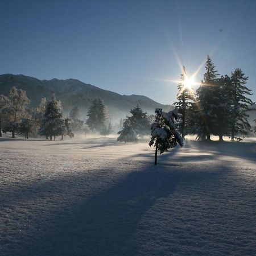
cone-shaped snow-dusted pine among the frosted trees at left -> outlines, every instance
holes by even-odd
[[[47,102],[46,112],[42,125],[39,130],[40,135],[45,135],[52,140],[52,137],[65,134],[66,128],[64,119],[60,112],[60,101],[56,100],[55,94],[52,95],[52,100]]]

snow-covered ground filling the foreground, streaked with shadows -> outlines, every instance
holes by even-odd
[[[0,255],[256,255],[256,142],[0,138]]]

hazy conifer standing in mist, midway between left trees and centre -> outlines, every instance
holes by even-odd
[[[105,105],[100,98],[93,100],[92,105],[88,110],[88,119],[86,124],[89,126],[90,130],[101,132],[105,123]]]

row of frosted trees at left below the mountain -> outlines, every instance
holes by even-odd
[[[108,114],[100,99],[94,99],[88,110],[88,119],[80,119],[79,108],[76,106],[69,112],[69,116],[61,113],[61,102],[52,95],[47,102],[42,98],[36,108],[30,108],[30,100],[26,91],[11,88],[9,96],[0,95],[0,137],[2,132],[11,132],[12,138],[16,134],[23,134],[28,138],[28,134],[33,137],[37,135],[45,136],[52,140],[57,136],[74,137],[74,133],[96,132],[108,135],[112,132],[112,125]]]

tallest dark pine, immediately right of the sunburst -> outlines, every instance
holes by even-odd
[[[216,120],[214,112],[218,104],[218,98],[216,98],[218,74],[209,55],[207,56],[205,68],[204,80],[201,81],[200,87],[196,90],[198,108],[195,113],[194,133],[198,135],[198,138],[210,141],[210,134]]]

